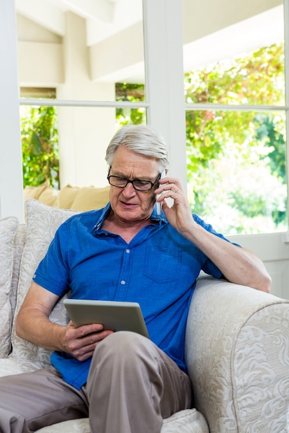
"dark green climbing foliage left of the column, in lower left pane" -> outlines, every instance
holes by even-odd
[[[24,187],[49,181],[58,188],[58,128],[54,107],[21,107]]]

